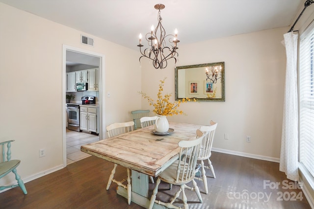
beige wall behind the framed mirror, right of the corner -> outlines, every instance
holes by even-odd
[[[278,161],[280,157],[286,55],[281,44],[287,27],[184,45],[181,40],[177,66],[225,62],[225,102],[190,102],[187,116],[169,121],[208,125],[218,122],[213,147],[222,152]],[[167,77],[165,93],[173,93],[174,62],[155,70],[142,62],[142,90],[156,98],[158,80]],[[204,73],[204,80],[206,76]],[[142,99],[142,107],[152,110]],[[229,139],[224,139],[224,134]],[[251,142],[246,142],[251,136]]]

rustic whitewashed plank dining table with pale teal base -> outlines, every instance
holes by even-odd
[[[169,122],[167,135],[154,134],[154,125],[116,137],[81,146],[80,150],[132,170],[131,201],[148,208],[148,175],[157,177],[179,156],[178,142],[196,136],[201,125]],[[117,187],[117,193],[127,198],[127,189]],[[154,209],[163,209],[158,204]]]

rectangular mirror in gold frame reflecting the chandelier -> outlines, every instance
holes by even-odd
[[[175,68],[176,100],[225,101],[225,62]]]

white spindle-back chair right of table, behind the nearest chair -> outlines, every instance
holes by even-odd
[[[208,194],[208,186],[207,186],[207,176],[205,168],[210,169],[213,178],[216,178],[214,168],[211,164],[211,161],[209,160],[211,156],[211,147],[212,142],[215,136],[215,131],[217,128],[217,123],[215,121],[210,121],[210,126],[201,126],[200,130],[204,133],[204,139],[202,141],[201,149],[199,156],[197,158],[198,161],[201,161],[201,169],[202,169],[202,178],[195,177],[196,179],[203,181],[205,192]],[[207,160],[209,166],[204,165],[204,161]]]

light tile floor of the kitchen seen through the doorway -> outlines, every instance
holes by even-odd
[[[87,158],[91,155],[81,152],[80,146],[89,144],[99,140],[99,136],[89,134],[86,132],[77,132],[67,129],[67,164]]]

